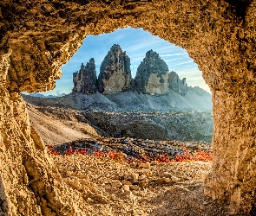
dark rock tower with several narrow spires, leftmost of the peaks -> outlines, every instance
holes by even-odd
[[[97,90],[96,81],[95,60],[92,58],[86,66],[82,64],[79,72],[73,73],[74,88],[72,92],[82,94],[95,93]]]

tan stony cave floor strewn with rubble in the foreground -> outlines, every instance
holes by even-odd
[[[87,203],[85,215],[229,215],[203,194],[211,162],[151,162],[53,156],[64,181]]]

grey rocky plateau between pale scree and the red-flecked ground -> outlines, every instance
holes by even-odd
[[[82,111],[105,137],[212,142],[211,111]]]

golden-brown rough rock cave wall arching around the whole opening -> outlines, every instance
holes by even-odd
[[[20,92],[53,89],[60,67],[86,35],[127,26],[186,48],[198,64],[213,94],[214,159],[205,193],[230,203],[233,212],[251,211],[256,188],[256,1],[2,0],[0,5],[2,212],[82,213],[75,204],[83,206],[82,200],[74,198],[30,127]]]

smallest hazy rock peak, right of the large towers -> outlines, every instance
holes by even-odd
[[[168,75],[168,86],[170,89],[181,94],[182,96],[187,94],[188,87],[186,83],[186,78],[180,79],[178,74],[174,71],[170,72]]]

